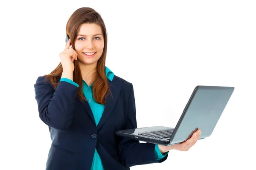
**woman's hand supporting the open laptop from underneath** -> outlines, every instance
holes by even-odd
[[[180,144],[174,144],[171,146],[158,145],[158,147],[162,154],[168,152],[169,150],[173,150],[173,149],[180,150],[180,151],[188,151],[198,141],[200,134],[201,134],[201,130],[198,129],[196,132],[193,133],[191,138],[185,142],[182,142]]]

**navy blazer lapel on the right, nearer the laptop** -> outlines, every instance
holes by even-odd
[[[118,83],[118,81],[115,81],[116,79],[117,79],[117,77],[114,76],[112,82],[110,80],[108,80],[108,85],[109,85],[109,88],[110,88],[112,96],[109,95],[109,94],[106,96],[105,108],[104,108],[104,111],[102,113],[102,117],[99,120],[99,124],[97,126],[97,130],[99,130],[100,127],[102,127],[102,125],[105,123],[105,121],[111,115],[111,113],[112,113],[112,111],[113,111],[113,109],[114,109],[114,107],[116,105],[117,99],[119,97],[122,84]]]

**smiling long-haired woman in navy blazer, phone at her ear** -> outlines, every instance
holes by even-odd
[[[116,136],[116,130],[137,127],[134,90],[105,66],[102,17],[92,8],[79,8],[66,32],[70,40],[59,54],[61,63],[34,85],[39,116],[52,139],[47,170],[129,170],[163,162],[169,150],[186,151],[195,144],[199,130],[168,147]]]

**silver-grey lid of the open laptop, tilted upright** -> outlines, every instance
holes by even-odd
[[[201,129],[199,139],[212,134],[234,87],[197,86],[170,138],[170,144],[184,142],[194,130]]]

